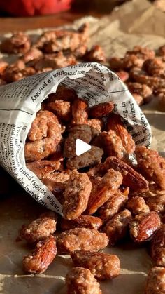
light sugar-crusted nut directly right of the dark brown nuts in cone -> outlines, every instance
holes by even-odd
[[[107,156],[116,156],[119,159],[124,157],[126,152],[122,145],[122,140],[115,131],[103,131],[101,137],[103,140],[103,150]]]

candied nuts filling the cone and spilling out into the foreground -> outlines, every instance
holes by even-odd
[[[76,156],[76,139],[92,148]],[[137,165],[128,154],[135,152]],[[113,102],[89,108],[59,85],[36,114],[25,144],[27,168],[63,205],[63,217],[45,211],[20,236],[34,244],[23,259],[26,272],[43,273],[57,254],[69,254],[67,293],[101,294],[99,282],[120,274],[117,255],[99,252],[123,239],[150,243],[154,267],[145,294],[165,285],[165,159],[136,147]],[[55,233],[55,235],[54,235]]]

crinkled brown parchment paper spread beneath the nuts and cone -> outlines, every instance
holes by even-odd
[[[136,44],[150,48],[165,44],[164,13],[148,1],[129,2],[101,20],[91,17],[86,20],[91,24],[89,45],[101,44],[109,57],[122,56]],[[82,22],[84,20],[78,20],[75,27]],[[142,109],[152,127],[152,147],[165,155],[165,112],[159,109],[157,101]],[[17,230],[22,223],[36,218],[43,208],[22,189],[17,192],[18,187],[17,190],[12,187],[8,198],[1,198],[0,206],[0,293],[64,294],[64,276],[71,267],[67,256],[58,256],[45,274],[32,277],[22,271],[22,256],[29,253],[29,248],[24,242],[15,241]],[[147,246],[122,242],[120,246],[107,248],[106,252],[119,256],[122,270],[113,281],[101,282],[103,294],[143,294],[145,276],[152,266]]]

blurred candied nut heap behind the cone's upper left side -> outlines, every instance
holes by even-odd
[[[54,29],[44,32],[34,42],[24,32],[16,32],[4,39],[0,51],[15,54],[18,59],[10,65],[5,60],[0,60],[0,86],[32,74],[80,62],[104,62],[106,58],[100,46],[87,49],[88,31],[89,27],[85,23],[78,30]]]

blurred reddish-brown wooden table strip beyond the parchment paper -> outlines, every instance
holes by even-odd
[[[88,15],[101,17],[103,13],[88,12]],[[82,18],[85,13],[74,13],[66,11],[56,15],[35,16],[29,18],[0,18],[0,34],[14,31],[25,31],[27,29],[38,29],[43,27],[57,27],[64,24],[71,24],[74,20]]]

